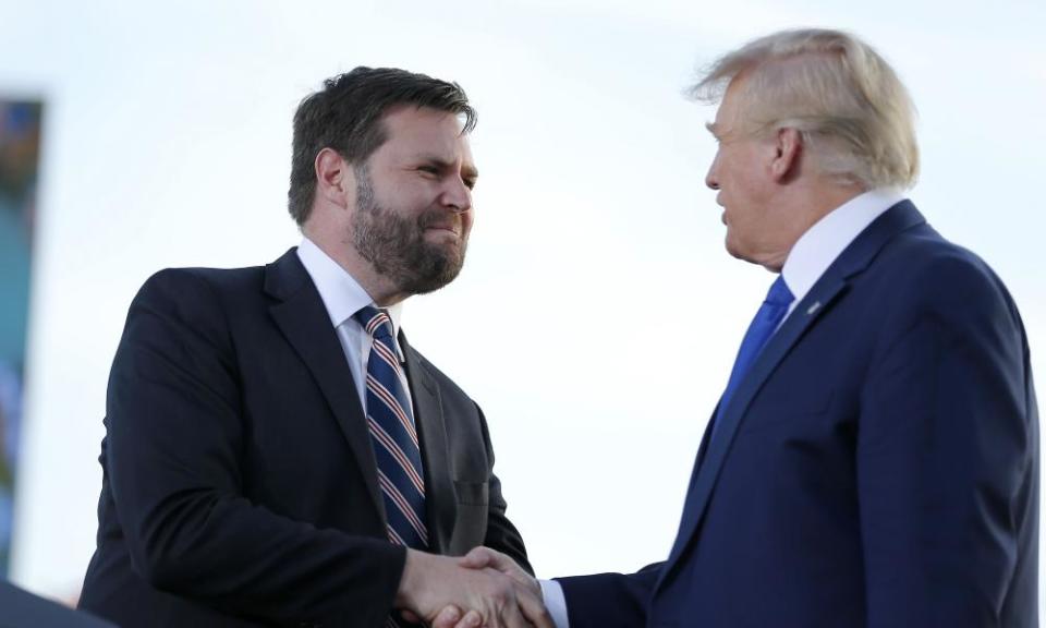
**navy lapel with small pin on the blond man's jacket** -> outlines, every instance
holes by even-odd
[[[763,384],[774,373],[781,360],[791,348],[800,341],[831,305],[843,298],[854,275],[863,271],[872,263],[883,246],[896,234],[917,225],[925,219],[909,201],[902,201],[890,207],[872,222],[860,235],[839,255],[817,280],[803,300],[795,306],[781,325],[781,328],[770,337],[763,352],[752,364],[751,370],[741,382],[730,406],[719,418],[717,434],[714,442],[703,444],[702,456],[694,467],[686,500],[683,505],[683,516],[680,522],[676,543],[668,557],[668,564],[661,572],[661,581],[673,572],[674,566],[683,551],[694,541],[701,520],[708,505],[708,498],[719,479],[722,463],[730,451],[733,438],[752,400],[763,388]]]

